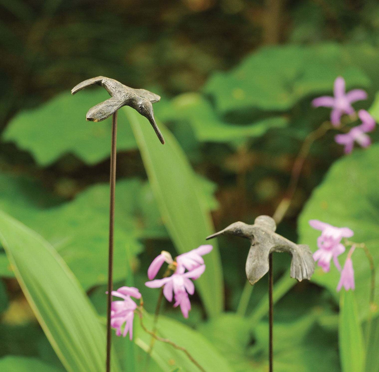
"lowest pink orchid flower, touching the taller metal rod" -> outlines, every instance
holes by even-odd
[[[141,298],[137,288],[134,287],[121,287],[117,291],[112,291],[112,295],[120,297],[123,301],[113,301],[111,303],[111,327],[116,329],[117,336],[126,336],[129,332],[129,338],[133,338],[133,318],[134,311],[137,308],[137,304],[131,299]],[[124,332],[121,328],[125,324]]]

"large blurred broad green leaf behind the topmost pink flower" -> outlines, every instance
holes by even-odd
[[[264,47],[235,69],[214,73],[204,91],[221,114],[287,111],[308,95],[331,94],[337,76],[345,78],[348,89],[369,84],[341,45]]]

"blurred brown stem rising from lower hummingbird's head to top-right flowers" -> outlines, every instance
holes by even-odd
[[[305,138],[303,144],[301,145],[299,154],[293,164],[290,183],[288,184],[285,196],[274,212],[273,219],[275,220],[276,224],[279,224],[279,222],[283,220],[285,214],[288,211],[288,208],[291,205],[293,195],[295,194],[296,188],[298,187],[301,171],[303,169],[304,162],[308,156],[311,145],[316,141],[316,139],[321,138],[331,128],[332,126],[330,125],[330,122],[324,122],[316,130],[309,133]]]

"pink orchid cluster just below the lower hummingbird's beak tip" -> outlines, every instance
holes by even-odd
[[[202,256],[209,253],[212,248],[211,245],[200,245],[196,249],[177,256],[176,263],[168,252],[163,251],[151,263],[147,271],[148,277],[150,280],[155,278],[164,262],[176,266],[174,274],[170,277],[148,281],[145,285],[149,288],[163,287],[163,295],[166,300],[172,302],[174,296],[174,307],[180,306],[183,316],[188,318],[188,312],[191,310],[188,294],[192,295],[195,291],[195,286],[191,279],[196,280],[203,274],[205,264]],[[186,272],[186,270],[188,271]]]

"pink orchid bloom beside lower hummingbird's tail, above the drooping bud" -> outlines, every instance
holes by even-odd
[[[321,236],[317,239],[318,250],[313,253],[313,259],[318,261],[325,272],[330,270],[330,261],[333,258],[338,270],[341,270],[338,256],[345,252],[345,246],[341,244],[342,238],[350,238],[354,232],[347,227],[334,227],[319,220],[310,220],[311,227],[321,230]]]

